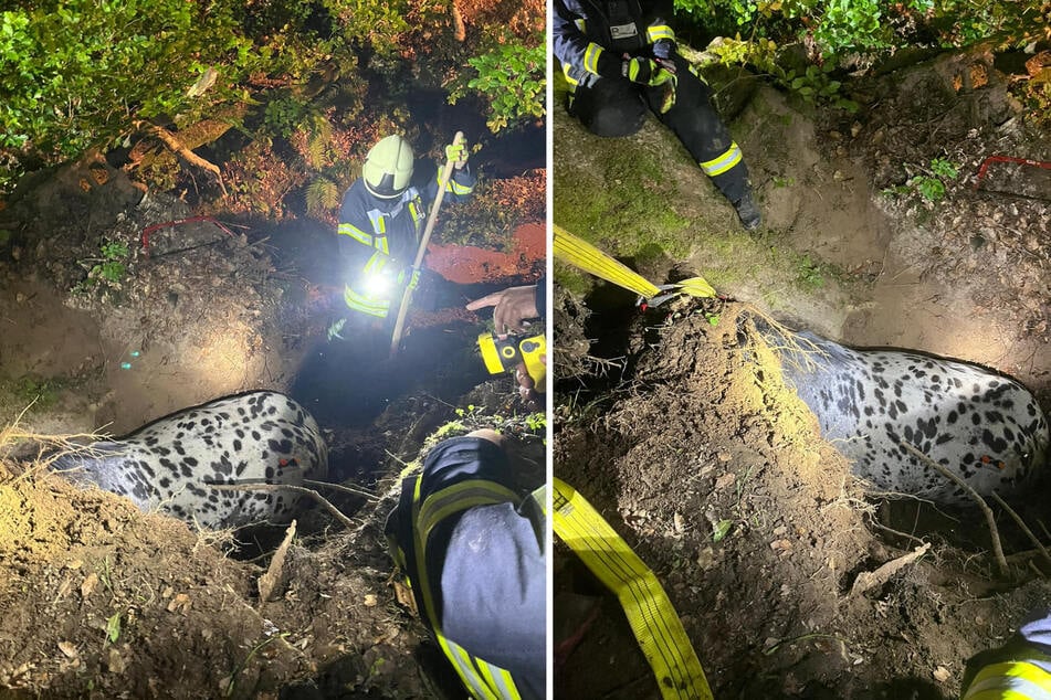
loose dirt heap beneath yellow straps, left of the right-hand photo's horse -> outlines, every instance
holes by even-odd
[[[654,570],[715,697],[954,697],[964,661],[1051,585],[987,597],[991,560],[937,533],[918,561],[879,572],[923,542],[877,537],[874,506],[775,357],[739,347],[738,312],[682,303],[630,324],[632,379],[560,407],[556,474]],[[982,528],[970,511],[957,517]],[[862,585],[866,572],[876,577]],[[1031,577],[1021,563],[1013,573]],[[587,629],[559,660],[565,697],[659,697],[616,601],[566,553],[555,586],[556,619],[561,609],[575,623],[566,634]],[[566,594],[599,607],[590,628]]]

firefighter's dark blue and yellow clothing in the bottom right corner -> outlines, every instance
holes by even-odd
[[[1022,625],[1006,645],[975,655],[961,700],[1051,698],[1051,612]]]

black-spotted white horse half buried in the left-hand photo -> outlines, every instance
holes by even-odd
[[[286,522],[299,495],[210,488],[213,484],[299,485],[324,479],[328,447],[314,417],[273,391],[186,409],[130,435],[96,442],[51,462],[81,486],[97,486],[202,528]]]

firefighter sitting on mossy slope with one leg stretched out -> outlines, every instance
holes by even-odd
[[[748,169],[715,109],[712,91],[675,52],[671,0],[554,0],[555,56],[569,83],[569,113],[593,134],[630,136],[653,112],[734,205],[747,231],[761,215]]]

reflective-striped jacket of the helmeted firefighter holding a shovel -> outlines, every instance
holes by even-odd
[[[424,171],[431,176],[422,182],[416,180],[398,198],[374,197],[360,178],[344,195],[336,237],[346,265],[344,298],[353,310],[387,318],[391,299],[397,305],[404,286],[416,283],[411,266],[428,208],[438,195],[441,168],[437,171],[416,169],[418,173]],[[474,190],[474,176],[466,166],[453,170],[445,185],[445,197],[466,198]],[[395,309],[397,311],[397,306]]]

